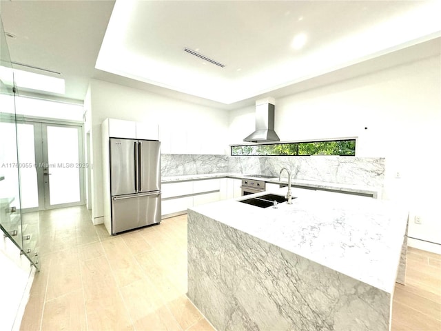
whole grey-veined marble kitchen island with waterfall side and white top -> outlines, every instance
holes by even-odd
[[[187,296],[214,327],[390,330],[408,212],[301,189],[276,209],[237,201],[262,194],[188,210]]]

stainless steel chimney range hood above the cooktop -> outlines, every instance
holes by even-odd
[[[274,131],[274,98],[256,101],[256,131],[249,134],[243,141],[263,143],[266,141],[280,141]]]

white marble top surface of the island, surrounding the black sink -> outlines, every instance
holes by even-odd
[[[286,194],[287,188],[272,193]],[[238,199],[192,208],[237,230],[393,292],[408,211],[401,205],[335,192],[292,189],[292,205],[258,208]]]

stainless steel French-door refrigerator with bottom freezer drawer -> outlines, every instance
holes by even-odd
[[[112,234],[161,222],[161,143],[110,138]]]

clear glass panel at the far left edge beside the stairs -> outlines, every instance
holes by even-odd
[[[22,217],[14,74],[0,17],[0,229],[39,270],[39,223]],[[24,174],[24,172],[23,172]]]

